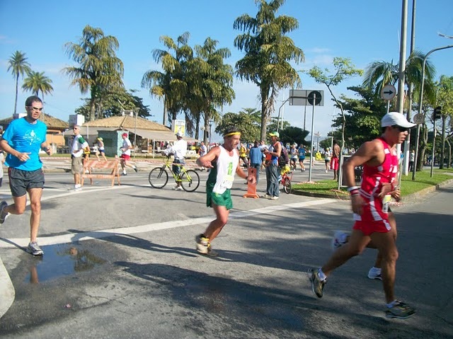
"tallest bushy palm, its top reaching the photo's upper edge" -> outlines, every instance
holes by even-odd
[[[233,28],[244,32],[234,39],[234,46],[246,52],[245,57],[236,62],[236,75],[241,80],[253,81],[260,88],[261,139],[264,140],[278,92],[300,84],[299,74],[291,62],[303,62],[304,52],[285,35],[299,27],[297,20],[275,16],[285,0],[256,0],[256,3],[255,18],[243,14],[234,21]]]

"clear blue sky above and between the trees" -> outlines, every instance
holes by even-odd
[[[287,0],[279,15],[297,18],[299,28],[289,36],[302,48],[305,62],[294,67],[308,70],[314,65],[331,68],[333,57],[348,57],[357,68],[365,69],[375,60],[399,60],[402,1],[398,0]],[[411,28],[412,1],[408,0],[408,35]],[[418,0],[416,3],[415,48],[428,52],[436,47],[453,45],[453,39],[442,38],[438,32],[453,35],[452,0]],[[65,42],[77,42],[85,25],[101,28],[105,35],[114,35],[120,42],[117,56],[125,66],[126,88],[137,89],[151,109],[151,120],[162,122],[162,103],[149,96],[140,84],[145,71],[159,69],[151,51],[161,49],[161,35],[176,39],[190,32],[191,46],[202,45],[207,37],[219,41],[218,47],[228,47],[231,57],[226,62],[234,66],[243,57],[234,45],[240,32],[233,29],[233,22],[243,13],[255,16],[258,7],[253,0],[131,0],[131,1],[0,1],[0,118],[9,117],[14,108],[15,85],[7,71],[11,54],[25,52],[34,71],[44,71],[52,79],[54,92],[45,97],[45,112],[59,119],[68,120],[81,105],[78,88],[69,86],[69,79],[61,69],[71,64],[64,53]],[[409,41],[409,39],[408,39]],[[409,50],[409,43],[407,49]],[[437,69],[437,76],[453,76],[453,49],[435,52],[430,62]],[[304,89],[323,90],[324,107],[316,108],[314,131],[321,132],[321,139],[331,130],[333,108],[327,89],[316,84],[306,74],[301,74]],[[361,84],[360,77],[334,88],[336,95],[347,91],[347,86]],[[21,86],[21,80],[20,85]],[[223,112],[238,112],[242,108],[260,109],[258,88],[254,84],[235,79],[236,99]],[[275,115],[289,88],[280,91]],[[30,93],[19,89],[18,111],[23,108]],[[304,107],[285,105],[285,120],[303,127]],[[311,129],[311,108],[306,110],[306,130]]]

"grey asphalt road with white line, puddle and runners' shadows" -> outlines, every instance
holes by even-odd
[[[320,166],[314,176],[331,173]],[[0,227],[16,293],[1,338],[453,337],[452,186],[393,207],[396,295],[418,310],[406,321],[384,318],[382,285],[366,277],[374,250],[336,270],[322,299],[311,292],[306,270],[328,258],[333,231],[350,229],[349,202],[246,199],[236,180],[235,208],[213,243],[219,258],[207,258],[194,241],[213,219],[204,181],[194,193],[156,190],[141,171],[114,188],[107,180],[71,187],[69,173],[47,173],[42,258],[23,251],[28,210]],[[264,188],[262,180],[258,193]],[[0,195],[11,202],[7,185]]]

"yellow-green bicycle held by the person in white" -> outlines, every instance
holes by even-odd
[[[200,185],[200,176],[193,170],[186,170],[183,164],[177,164],[180,166],[181,171],[179,175],[173,172],[171,168],[173,163],[170,161],[170,156],[167,156],[167,160],[161,167],[156,167],[149,172],[148,181],[153,188],[164,188],[168,183],[168,171],[173,175],[176,183],[180,182],[181,187],[185,192],[193,192]],[[168,171],[167,171],[168,169]]]

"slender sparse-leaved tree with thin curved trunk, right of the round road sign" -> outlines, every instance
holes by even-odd
[[[362,69],[356,69],[354,64],[352,64],[349,58],[343,57],[334,57],[333,58],[333,71],[329,69],[320,69],[315,66],[308,71],[309,76],[311,76],[317,83],[326,85],[328,91],[331,93],[333,101],[335,101],[338,108],[341,111],[342,125],[341,125],[341,145],[340,145],[340,155],[343,154],[343,148],[345,146],[345,126],[346,126],[346,115],[343,105],[337,99],[335,94],[332,91],[333,86],[337,86],[343,80],[351,78],[353,76],[361,76],[363,74]],[[341,175],[341,168],[340,174]],[[338,180],[338,189],[340,189],[340,180]]]

